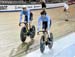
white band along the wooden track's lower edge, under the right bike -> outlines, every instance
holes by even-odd
[[[75,43],[75,33],[71,33],[65,37],[54,42],[51,50],[48,47],[45,48],[44,54],[40,52],[40,49],[29,53],[23,57],[55,57],[59,52]]]

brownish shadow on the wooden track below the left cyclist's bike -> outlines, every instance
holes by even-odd
[[[34,40],[30,42],[21,43],[17,48],[13,48],[9,54],[9,57],[22,57],[27,54],[31,49],[30,46],[34,43]]]

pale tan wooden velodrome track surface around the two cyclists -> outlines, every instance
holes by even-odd
[[[51,32],[53,33],[54,40],[75,32],[75,5],[70,5],[69,14],[70,21],[65,22],[65,14],[63,7],[46,9],[52,19]],[[41,10],[32,11],[34,14],[33,22],[37,29],[37,19]],[[30,38],[26,40],[28,43],[22,44],[20,41],[19,27],[19,12],[4,12],[0,13],[0,57],[22,57],[23,53],[30,47]],[[39,46],[40,35],[35,36],[34,43],[31,46],[34,50],[35,46]],[[37,47],[35,47],[37,49]]]

